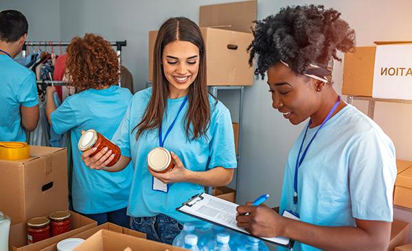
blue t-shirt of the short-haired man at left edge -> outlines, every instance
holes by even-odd
[[[38,105],[34,72],[0,55],[0,141],[26,141],[20,106]]]

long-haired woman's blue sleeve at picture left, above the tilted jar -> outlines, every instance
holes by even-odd
[[[122,122],[119,124],[119,127],[117,127],[117,131],[115,132],[115,135],[113,135],[113,138],[111,142],[113,144],[116,144],[119,146],[120,151],[122,152],[122,155],[125,157],[130,157],[130,109],[132,106],[133,102],[130,102],[130,105],[127,108],[126,113],[124,114]]]

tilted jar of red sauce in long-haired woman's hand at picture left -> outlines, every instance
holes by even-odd
[[[97,150],[92,153],[90,157],[93,157],[100,150],[104,149],[104,147],[107,147],[108,151],[111,150],[112,154],[115,155],[113,160],[108,163],[107,166],[113,166],[114,164],[116,164],[120,158],[120,155],[122,155],[120,153],[119,146],[116,146],[110,140],[106,139],[104,135],[98,133],[93,129],[82,131],[82,136],[80,137],[80,140],[78,142],[78,149],[80,151],[87,151],[93,147],[97,147]]]

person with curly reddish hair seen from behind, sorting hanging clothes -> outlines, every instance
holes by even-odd
[[[128,228],[126,215],[133,166],[117,173],[99,172],[82,162],[78,141],[82,130],[95,129],[110,139],[122,121],[132,94],[117,86],[119,63],[108,41],[95,34],[75,37],[67,47],[69,86],[77,93],[60,107],[54,105],[54,87],[47,87],[47,118],[56,133],[71,131],[73,209],[98,221]]]

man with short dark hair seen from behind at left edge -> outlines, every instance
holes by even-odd
[[[26,141],[25,130],[38,122],[36,77],[13,58],[27,38],[28,24],[21,12],[0,12],[0,141]]]

